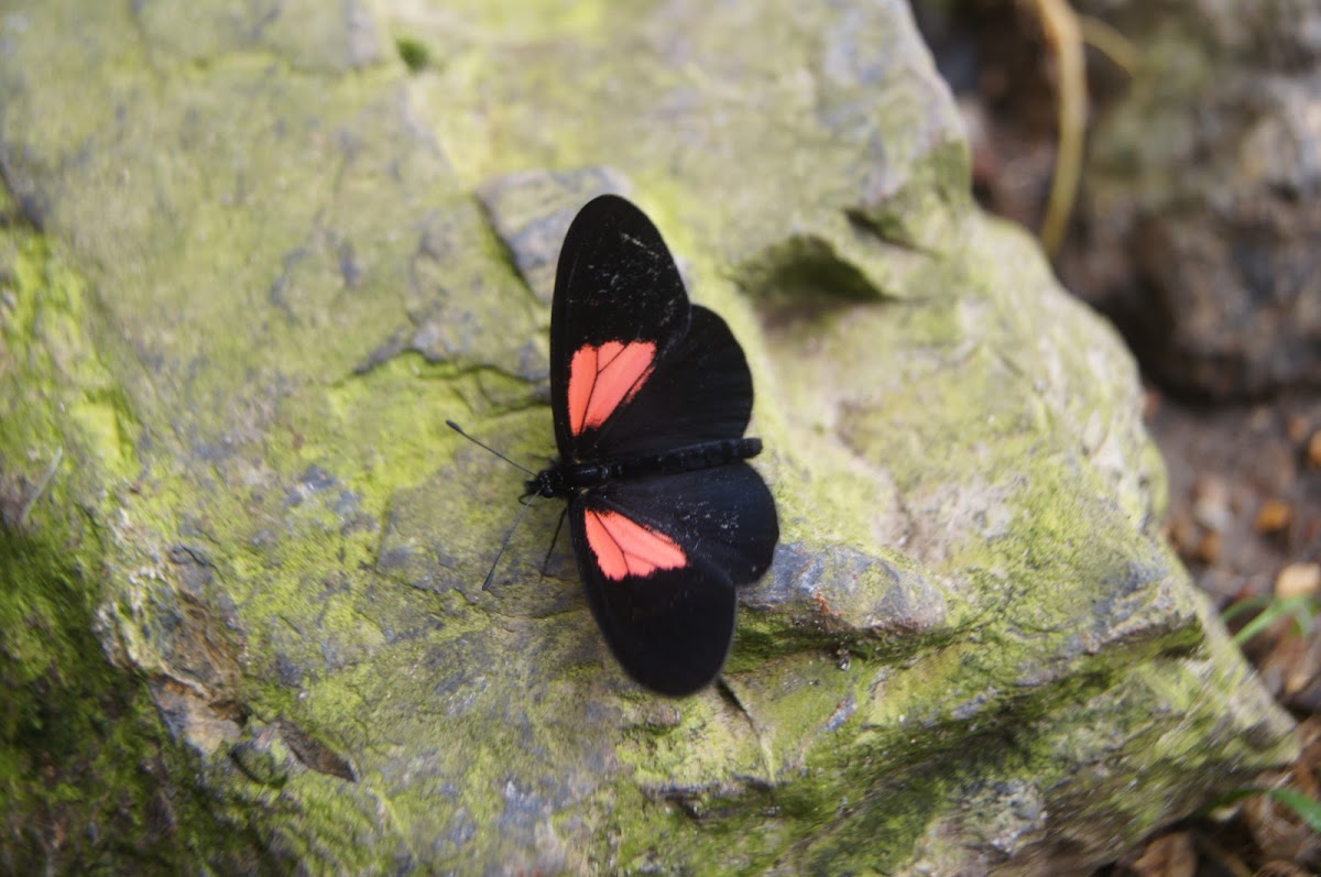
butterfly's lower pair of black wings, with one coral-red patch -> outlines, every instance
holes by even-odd
[[[643,685],[686,695],[724,664],[738,585],[770,565],[779,536],[761,477],[734,462],[617,481],[572,501],[569,522],[592,613]]]

